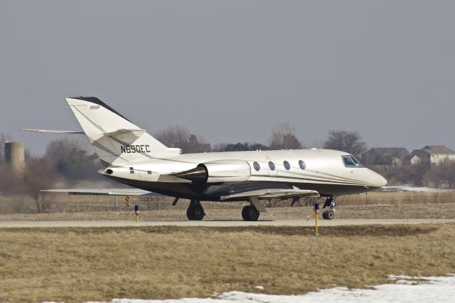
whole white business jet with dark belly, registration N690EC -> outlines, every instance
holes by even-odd
[[[188,220],[205,216],[200,201],[250,201],[244,220],[257,220],[266,211],[260,200],[325,197],[323,218],[336,212],[336,196],[365,193],[385,186],[380,174],[365,168],[354,156],[328,149],[225,151],[181,154],[168,148],[96,97],[66,101],[83,132],[24,129],[55,134],[85,134],[105,169],[100,174],[130,189],[50,190],[70,194],[146,196],[160,193],[187,198]]]

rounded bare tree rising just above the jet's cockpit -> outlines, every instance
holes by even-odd
[[[346,130],[331,130],[324,142],[324,149],[336,149],[346,151],[359,158],[365,151],[366,144],[362,141],[358,132],[347,132]]]

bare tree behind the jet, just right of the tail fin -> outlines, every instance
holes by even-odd
[[[156,132],[155,137],[166,147],[182,149],[184,154],[205,151],[203,139],[178,124],[169,125],[166,129]]]

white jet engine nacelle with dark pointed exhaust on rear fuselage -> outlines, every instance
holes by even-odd
[[[173,176],[200,183],[247,181],[251,176],[250,164],[243,160],[217,160],[198,164],[196,169],[181,171]]]

